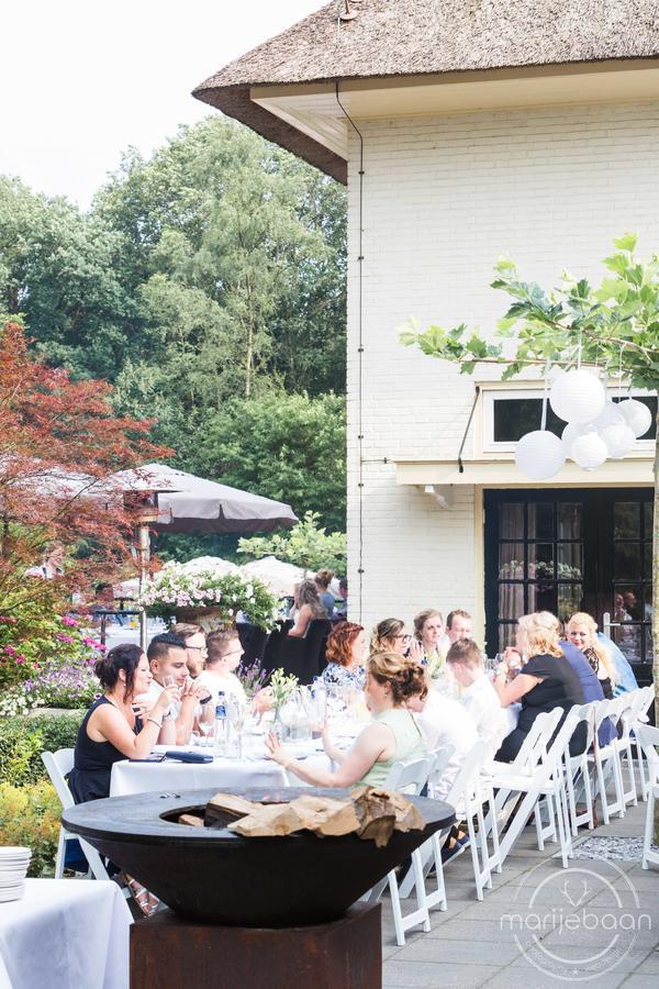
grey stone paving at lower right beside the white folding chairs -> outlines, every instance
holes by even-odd
[[[638,837],[645,813],[644,803],[628,808],[623,820],[615,819],[594,832],[580,832],[579,837]],[[612,870],[607,862],[571,859],[570,868],[562,869],[560,859],[552,857],[556,851],[551,843],[538,852],[535,829],[526,829],[502,874],[493,874],[493,889],[485,890],[482,902],[476,898],[471,856],[449,863],[445,869],[448,911],[432,911],[431,932],[407,932],[404,947],[395,944],[386,898],[384,989],[562,989],[568,984],[658,989],[659,868],[644,870],[639,862],[616,860]],[[413,905],[413,899],[403,901],[403,911]],[[612,946],[603,926],[616,910],[621,926],[611,932],[611,936],[617,935]],[[623,930],[623,913],[626,922],[636,925],[633,930]],[[535,949],[529,914],[537,914],[538,923],[545,924],[537,933],[539,946]],[[641,925],[640,914],[649,918],[649,930]],[[569,915],[574,918],[574,929],[566,925]],[[588,924],[594,929],[589,930]]]

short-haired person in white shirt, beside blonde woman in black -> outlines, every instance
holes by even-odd
[[[471,638],[454,642],[446,662],[462,688],[460,704],[471,715],[480,742],[498,751],[507,732],[499,694],[485,673],[481,651]]]

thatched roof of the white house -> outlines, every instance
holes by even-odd
[[[250,86],[659,56],[657,0],[344,0],[248,52],[194,96],[330,175],[345,163],[249,100]]]

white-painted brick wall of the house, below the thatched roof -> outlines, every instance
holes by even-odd
[[[410,315],[491,330],[506,297],[489,288],[509,254],[545,286],[567,266],[599,278],[624,231],[659,246],[659,103],[543,108],[360,121],[364,196],[364,592],[361,619],[435,605],[473,610],[473,490],[443,511],[398,487],[389,460],[457,456],[473,381],[398,343]],[[348,540],[358,618],[358,141],[350,137]],[[484,377],[483,374],[480,377]],[[466,455],[472,453],[470,442]]]

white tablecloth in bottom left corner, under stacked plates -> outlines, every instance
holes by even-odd
[[[0,989],[127,989],[130,925],[115,882],[27,879],[0,903]]]

